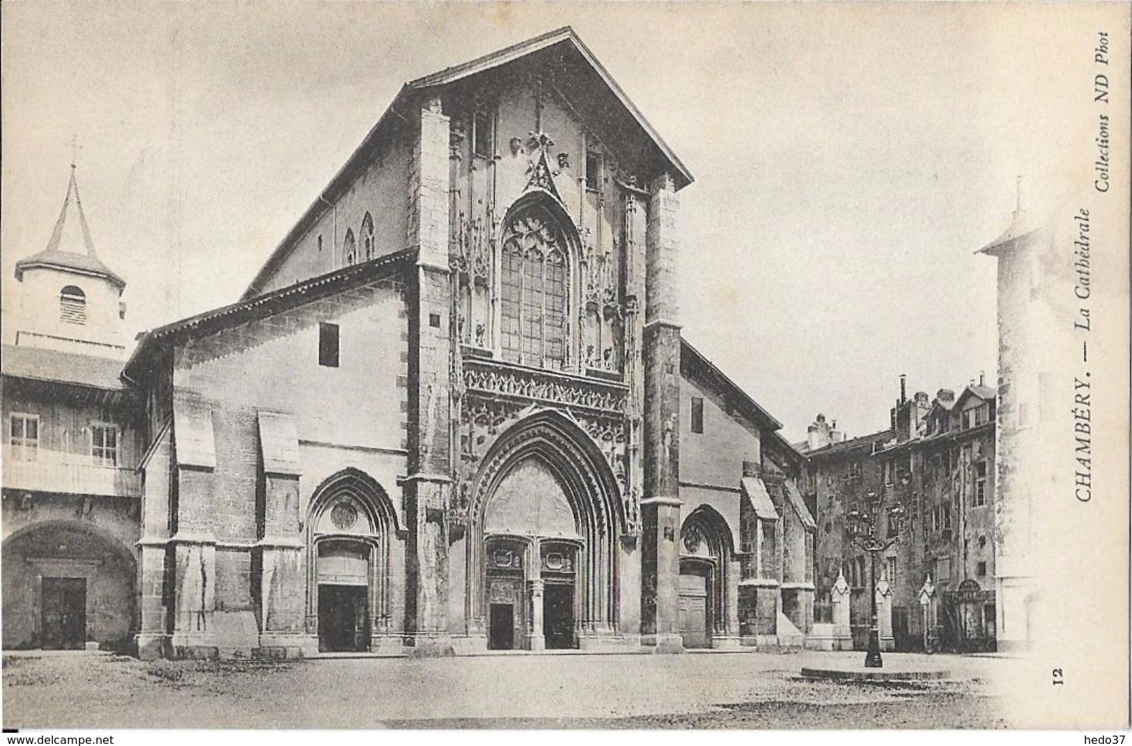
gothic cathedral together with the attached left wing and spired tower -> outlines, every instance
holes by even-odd
[[[3,646],[804,645],[805,457],[681,336],[691,182],[554,31],[406,84],[237,302],[127,355],[72,170],[3,350]]]

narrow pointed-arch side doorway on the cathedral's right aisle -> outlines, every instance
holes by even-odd
[[[735,547],[727,521],[702,505],[680,530],[680,635],[685,648],[711,648],[713,640],[736,634],[730,608]]]

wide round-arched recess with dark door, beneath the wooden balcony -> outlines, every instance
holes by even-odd
[[[128,649],[137,561],[112,534],[78,521],[46,521],[3,542],[3,646]]]

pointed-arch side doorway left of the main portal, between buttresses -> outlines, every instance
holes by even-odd
[[[388,495],[358,469],[315,491],[307,520],[307,629],[324,652],[369,650],[392,626]]]

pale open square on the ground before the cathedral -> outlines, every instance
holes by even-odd
[[[6,727],[996,728],[993,680],[1015,661],[886,655],[944,681],[807,681],[864,653],[488,654],[294,662],[108,654],[3,659]]]

